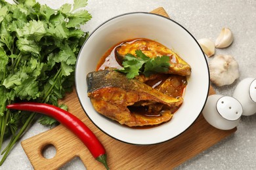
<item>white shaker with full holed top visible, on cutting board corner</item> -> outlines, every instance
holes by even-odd
[[[238,126],[242,112],[242,105],[237,99],[215,94],[208,97],[202,114],[211,126],[228,130]]]

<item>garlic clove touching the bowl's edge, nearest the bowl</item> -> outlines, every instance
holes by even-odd
[[[203,52],[208,57],[211,57],[215,54],[215,44],[210,39],[199,39],[198,43],[200,44]]]

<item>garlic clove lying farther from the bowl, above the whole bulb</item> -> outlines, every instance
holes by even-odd
[[[230,46],[230,44],[232,44],[233,40],[234,37],[232,31],[227,27],[223,27],[223,29],[221,29],[219,37],[217,37],[215,41],[215,47],[226,48]]]

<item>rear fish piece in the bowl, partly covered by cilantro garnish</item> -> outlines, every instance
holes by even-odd
[[[166,46],[163,46],[163,44],[149,39],[137,39],[117,46],[115,49],[115,55],[119,64],[121,65],[126,54],[135,55],[136,50],[141,50],[149,58],[154,58],[156,56],[169,56],[169,62],[171,63],[169,71],[167,72],[169,74],[181,76],[188,76],[191,74],[191,67],[186,63],[186,61],[184,61],[184,59]]]

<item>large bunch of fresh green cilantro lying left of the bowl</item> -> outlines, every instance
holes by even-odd
[[[0,148],[11,135],[0,165],[35,118],[35,113],[16,114],[6,105],[36,101],[58,106],[58,99],[72,90],[75,61],[88,35],[80,25],[91,19],[86,0],[60,9],[35,0],[14,2],[0,1]],[[40,122],[52,125],[55,120],[43,117]]]

